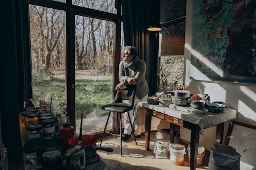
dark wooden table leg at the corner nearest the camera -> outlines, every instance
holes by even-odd
[[[200,128],[198,125],[194,125],[191,129],[191,138],[190,138],[190,170],[195,170],[197,167],[197,152],[198,152],[198,143],[200,136]]]

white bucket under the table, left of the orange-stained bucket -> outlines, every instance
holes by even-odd
[[[166,159],[168,157],[169,140],[157,139],[155,140],[155,153],[156,158]]]

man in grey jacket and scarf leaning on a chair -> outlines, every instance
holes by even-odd
[[[124,85],[136,85],[135,94],[135,105],[140,101],[146,101],[148,92],[150,91],[147,86],[145,79],[146,74],[146,63],[138,59],[136,47],[125,46],[123,61],[119,64],[119,84],[116,86],[116,90]],[[130,116],[133,110],[129,112]],[[136,117],[135,117],[136,118]],[[138,115],[135,121],[134,119],[134,129],[135,137],[140,137],[142,133],[142,126],[145,124],[144,115]],[[143,126],[144,127],[144,126]],[[124,113],[124,136],[122,140],[125,141],[131,137],[132,127],[129,123],[128,113]]]

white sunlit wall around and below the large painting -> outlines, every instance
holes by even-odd
[[[200,93],[210,95],[210,101],[223,101],[230,108],[236,109],[237,121],[251,125],[256,125],[256,85],[241,84],[232,82],[212,82],[190,80],[190,47],[192,38],[192,22],[193,22],[193,0],[187,1],[186,6],[186,30],[185,30],[185,63],[184,63],[184,82],[188,85],[187,89],[192,93]],[[249,61],[248,61],[249,62]],[[229,122],[225,123],[224,139],[226,136]],[[203,145],[210,150],[212,143],[215,142],[216,127],[211,127],[203,131],[200,136],[199,145]],[[252,134],[255,135],[255,134]],[[181,128],[181,138],[190,141],[190,130]]]

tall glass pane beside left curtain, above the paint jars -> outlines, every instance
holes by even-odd
[[[65,11],[29,5],[33,98],[66,107],[65,95]],[[55,102],[54,102],[55,103]],[[55,105],[54,105],[55,106]],[[58,107],[53,111],[58,111]]]

